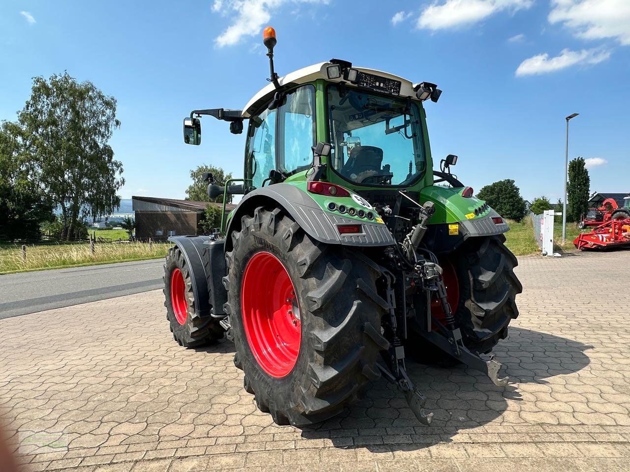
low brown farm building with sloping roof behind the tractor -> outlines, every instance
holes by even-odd
[[[139,240],[166,240],[169,236],[196,235],[207,205],[221,203],[133,196],[135,237]],[[235,205],[226,205],[226,211]]]

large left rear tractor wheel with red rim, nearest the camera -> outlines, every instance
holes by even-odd
[[[279,208],[232,232],[226,312],[246,391],[278,425],[333,417],[380,377],[388,305],[381,268],[358,250],[312,240]]]

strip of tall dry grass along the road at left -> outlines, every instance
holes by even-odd
[[[26,247],[26,261],[21,247],[8,247],[0,249],[0,274],[156,259],[166,256],[169,247],[171,243],[103,243],[92,254],[87,243],[35,245]]]

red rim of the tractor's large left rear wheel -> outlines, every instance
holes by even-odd
[[[270,252],[257,252],[245,267],[241,313],[261,368],[276,378],[292,371],[302,338],[300,308],[287,269]]]

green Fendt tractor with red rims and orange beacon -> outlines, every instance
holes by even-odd
[[[507,223],[451,172],[433,170],[423,104],[441,91],[345,60],[278,77],[266,28],[270,84],[243,110],[194,110],[247,120],[243,179],[219,186],[221,232],[178,236],[164,266],[173,337],[196,347],[233,340],[234,364],[277,424],[339,413],[383,376],[428,424],[407,374],[418,361],[456,359],[488,374],[490,353],[518,315],[517,260]],[[229,194],[243,194],[226,216]]]

